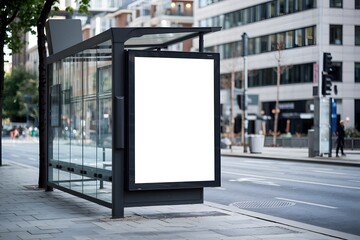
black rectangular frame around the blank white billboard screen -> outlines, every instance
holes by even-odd
[[[135,181],[135,61],[136,57],[148,58],[182,58],[182,59],[207,59],[213,60],[213,95],[214,95],[214,179],[209,181],[179,181],[179,182],[153,182],[153,183],[136,183]],[[221,182],[220,171],[220,55],[218,53],[204,53],[204,52],[174,52],[174,51],[139,51],[128,50],[126,51],[127,72],[128,72],[128,188],[130,191],[139,190],[160,190],[160,189],[190,189],[202,187],[219,187]],[[186,149],[181,149],[186,151]],[[206,150],[205,150],[206,151]],[[189,153],[190,155],[191,153]],[[171,159],[171,156],[169,156]],[[191,167],[191,166],[189,166]]]

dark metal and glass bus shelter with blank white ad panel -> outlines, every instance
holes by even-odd
[[[112,209],[220,186],[220,28],[110,28],[47,58],[48,186]],[[171,46],[198,38],[198,52]]]

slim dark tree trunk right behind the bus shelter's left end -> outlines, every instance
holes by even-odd
[[[39,53],[39,188],[47,187],[47,77],[45,22],[55,0],[46,0],[37,21]]]

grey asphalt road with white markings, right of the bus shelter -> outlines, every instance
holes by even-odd
[[[360,168],[222,157],[222,186],[205,199],[360,235]]]

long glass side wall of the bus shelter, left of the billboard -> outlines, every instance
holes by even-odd
[[[89,49],[53,64],[50,182],[111,202],[111,48]],[[59,120],[57,120],[57,113]]]

